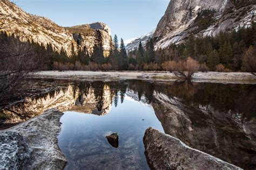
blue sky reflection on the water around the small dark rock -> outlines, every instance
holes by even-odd
[[[60,122],[59,145],[69,160],[66,169],[148,169],[144,132],[149,126],[163,131],[153,108],[128,96],[104,116],[66,111]],[[113,132],[119,135],[118,148],[105,138]]]

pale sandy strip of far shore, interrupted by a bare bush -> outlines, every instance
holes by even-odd
[[[89,71],[44,71],[37,72],[33,77],[47,79],[72,79],[72,80],[153,80],[175,81],[177,77],[170,72],[89,72]],[[194,82],[218,83],[250,83],[256,84],[256,76],[250,73],[219,73],[198,72],[193,75]]]

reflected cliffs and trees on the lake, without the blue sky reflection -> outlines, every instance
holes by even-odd
[[[152,105],[165,133],[242,168],[256,166],[255,85],[141,80],[65,83],[59,90],[6,107],[1,111],[2,122],[22,122],[50,108],[105,115],[129,95]]]

